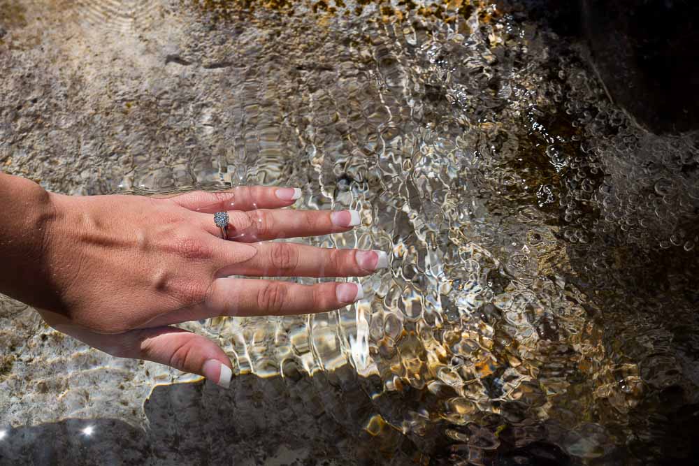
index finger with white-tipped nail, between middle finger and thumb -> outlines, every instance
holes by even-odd
[[[150,325],[169,325],[216,316],[283,316],[328,312],[364,297],[354,283],[301,285],[276,280],[215,279],[202,305],[182,308],[157,317]]]

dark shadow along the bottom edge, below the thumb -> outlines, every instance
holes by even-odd
[[[310,377],[295,382],[313,384]],[[356,428],[333,407],[301,407],[284,395],[280,378],[237,377],[229,390],[210,382],[157,386],[145,402],[144,430],[113,418],[68,418],[6,430],[0,464],[13,465],[447,465],[466,444],[410,437],[386,424]],[[331,390],[331,388],[329,389]],[[358,416],[371,404],[340,400]],[[398,401],[398,400],[396,400]],[[503,443],[493,465],[575,465],[558,446]]]

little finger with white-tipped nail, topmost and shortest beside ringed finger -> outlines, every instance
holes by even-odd
[[[192,191],[168,198],[185,209],[214,214],[225,210],[277,209],[301,197],[301,189],[240,186],[220,192]]]

